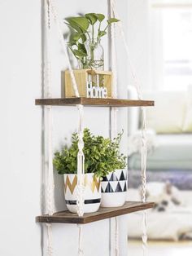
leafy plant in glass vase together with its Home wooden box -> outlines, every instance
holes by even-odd
[[[112,73],[103,71],[104,51],[101,39],[107,34],[107,28],[118,21],[111,18],[105,22],[105,15],[101,13],[87,13],[65,19],[70,29],[68,49],[78,62],[79,69],[74,69],[73,73],[81,97],[112,97]],[[64,72],[63,91],[66,98],[76,97],[69,70]]]

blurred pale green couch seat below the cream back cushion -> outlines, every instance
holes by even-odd
[[[192,135],[157,135],[156,148],[147,154],[147,170],[192,170]],[[129,168],[139,169],[141,156],[129,158]]]

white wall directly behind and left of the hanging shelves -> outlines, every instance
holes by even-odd
[[[77,12],[107,14],[107,1],[55,1],[64,18]],[[127,21],[127,1],[118,2],[122,20]],[[0,95],[1,95],[1,227],[0,255],[41,255],[41,228],[35,216],[41,213],[41,1],[1,0],[0,2]],[[52,29],[53,96],[60,95],[60,71],[66,60]],[[107,42],[104,43],[107,45]],[[107,50],[106,50],[107,53]],[[118,55],[126,66],[119,48]],[[120,94],[126,90],[126,68],[120,80]],[[120,68],[119,68],[120,69]],[[121,71],[122,73],[122,71]],[[124,82],[125,81],[125,82]],[[125,96],[126,97],[126,96]],[[54,108],[54,148],[76,129],[76,108]],[[98,118],[99,117],[99,118]],[[98,121],[99,120],[99,121]],[[97,134],[109,135],[109,111],[86,108],[85,126]],[[62,177],[55,174],[56,206],[63,210]],[[126,225],[120,218],[120,255],[126,254]],[[85,255],[107,256],[108,220],[86,225]],[[76,255],[77,228],[55,224],[55,255]]]

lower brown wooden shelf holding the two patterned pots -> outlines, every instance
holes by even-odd
[[[83,217],[79,217],[77,214],[72,214],[68,210],[55,213],[51,216],[41,215],[36,217],[37,223],[74,223],[74,224],[87,224],[93,223],[98,220],[112,218],[124,214],[130,214],[139,210],[146,210],[153,208],[155,203],[152,202],[136,202],[127,201],[121,207],[113,208],[100,208],[98,212],[92,214],[84,214]]]

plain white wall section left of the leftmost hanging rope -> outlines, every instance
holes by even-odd
[[[39,1],[0,2],[0,254],[41,255],[41,8]]]

